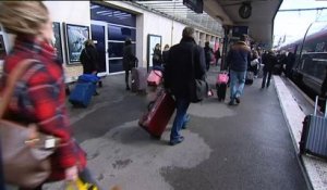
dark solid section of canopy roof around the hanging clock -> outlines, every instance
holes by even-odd
[[[254,40],[269,47],[272,43],[274,18],[281,3],[282,0],[204,0],[204,10],[220,20],[222,25],[247,26]],[[247,9],[241,9],[244,4]],[[244,14],[242,17],[240,12],[249,13],[249,17]]]

